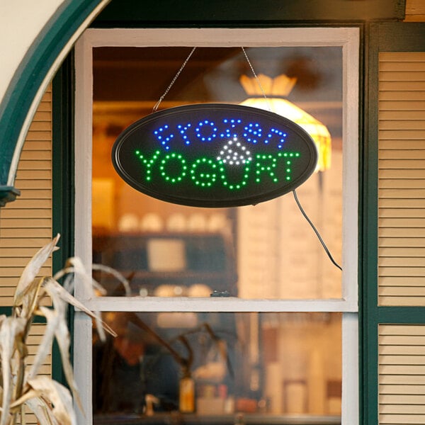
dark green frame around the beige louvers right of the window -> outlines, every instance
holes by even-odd
[[[425,324],[423,307],[378,306],[378,72],[379,53],[425,51],[425,25],[411,23],[372,23],[366,43],[368,55],[365,73],[365,195],[363,217],[365,251],[363,253],[363,349],[364,391],[361,424],[378,424],[378,326],[389,324]]]

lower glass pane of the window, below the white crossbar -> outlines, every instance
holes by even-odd
[[[339,424],[340,313],[104,319],[118,336],[94,339],[95,424]]]

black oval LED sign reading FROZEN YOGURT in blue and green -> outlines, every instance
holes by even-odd
[[[112,160],[130,186],[154,198],[232,207],[293,191],[314,171],[317,149],[276,113],[205,103],[137,120],[118,136]]]

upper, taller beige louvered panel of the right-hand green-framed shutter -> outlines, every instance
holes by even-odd
[[[379,305],[425,305],[425,52],[379,57]]]

